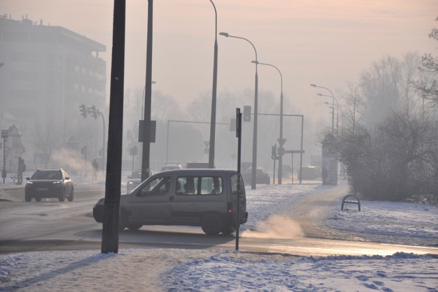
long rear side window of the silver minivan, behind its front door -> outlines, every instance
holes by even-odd
[[[177,178],[177,195],[219,195],[223,191],[222,178],[211,176],[181,176]]]

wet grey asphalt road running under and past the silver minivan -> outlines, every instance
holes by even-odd
[[[0,202],[0,254],[47,250],[100,250],[101,223],[92,218],[92,206],[104,196],[103,186],[76,186],[74,202],[42,199],[24,202],[24,188],[8,190],[13,202]],[[304,226],[305,227],[305,226]],[[395,252],[438,254],[435,247],[413,247],[313,237],[256,239],[243,236],[240,250],[298,256],[388,255]],[[201,228],[143,226],[119,234],[119,248],[157,247],[235,249],[235,236],[207,236]]]

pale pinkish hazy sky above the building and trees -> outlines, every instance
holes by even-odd
[[[438,55],[428,38],[438,27],[437,0],[214,0],[218,32],[248,38],[259,62],[283,73],[285,99],[294,114],[329,110],[316,93],[331,88],[336,95],[355,82],[373,61],[408,51]],[[0,0],[0,13],[59,25],[107,46],[110,77],[111,0]],[[143,88],[146,66],[147,0],[127,1],[125,90]],[[214,9],[209,0],[153,2],[153,90],[183,106],[211,91],[214,53]],[[254,88],[253,48],[248,42],[218,36],[218,93]],[[279,74],[259,66],[259,88],[279,96]],[[109,95],[109,90],[107,91]],[[325,93],[324,93],[325,94]],[[242,105],[243,107],[243,105]]]

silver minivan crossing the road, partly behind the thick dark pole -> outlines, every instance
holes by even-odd
[[[103,222],[100,199],[94,219]],[[246,194],[240,179],[240,224],[246,223]],[[227,169],[178,169],[152,175],[120,197],[120,230],[144,225],[201,226],[206,234],[235,231],[237,220],[237,171]]]

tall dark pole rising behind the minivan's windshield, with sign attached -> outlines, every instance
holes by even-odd
[[[144,129],[142,147],[142,181],[149,178],[151,156],[151,104],[152,104],[152,40],[153,0],[148,0],[148,29],[146,45],[146,90],[144,93]]]

